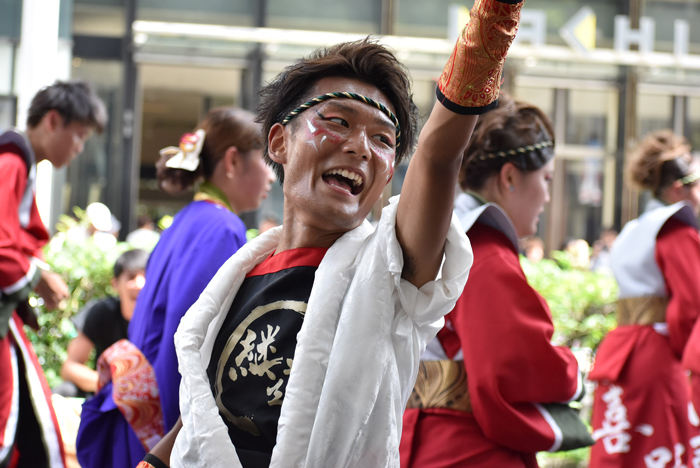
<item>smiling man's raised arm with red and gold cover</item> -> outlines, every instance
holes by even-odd
[[[403,277],[417,287],[440,268],[462,154],[478,115],[496,106],[522,3],[476,0],[440,76],[438,102],[418,138],[396,215]]]

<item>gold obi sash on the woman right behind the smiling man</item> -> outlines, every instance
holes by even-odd
[[[406,409],[472,411],[464,361],[421,361]]]

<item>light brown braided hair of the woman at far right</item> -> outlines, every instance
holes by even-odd
[[[692,171],[690,144],[671,130],[652,132],[630,154],[628,181],[640,190],[650,190],[655,197]]]

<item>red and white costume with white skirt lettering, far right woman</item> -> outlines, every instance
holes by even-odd
[[[657,209],[667,213],[655,226],[637,221],[630,235],[623,230],[613,247],[612,266],[621,297],[656,296],[649,288],[658,268],[662,294],[668,298],[666,323],[619,326],[601,344],[590,375],[597,382],[592,421],[597,442],[591,468],[700,466],[700,453],[695,453],[700,447],[698,419],[689,406],[689,380],[681,364],[684,353],[688,361],[695,361],[688,351],[700,339],[691,338],[700,316],[700,236],[689,207]],[[677,216],[683,211],[685,216]],[[633,226],[658,234],[648,247],[640,243],[630,250],[627,244],[639,237]],[[656,268],[634,268],[632,274],[621,268],[623,259],[636,261],[647,250]],[[644,282],[647,286],[634,290]],[[650,293],[640,295],[644,288]],[[686,367],[700,370],[697,361]]]

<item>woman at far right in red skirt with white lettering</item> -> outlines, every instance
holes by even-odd
[[[642,142],[627,171],[655,198],[611,251],[618,327],[590,376],[598,384],[590,466],[697,467],[698,418],[681,358],[700,315],[700,162],[666,130]]]

